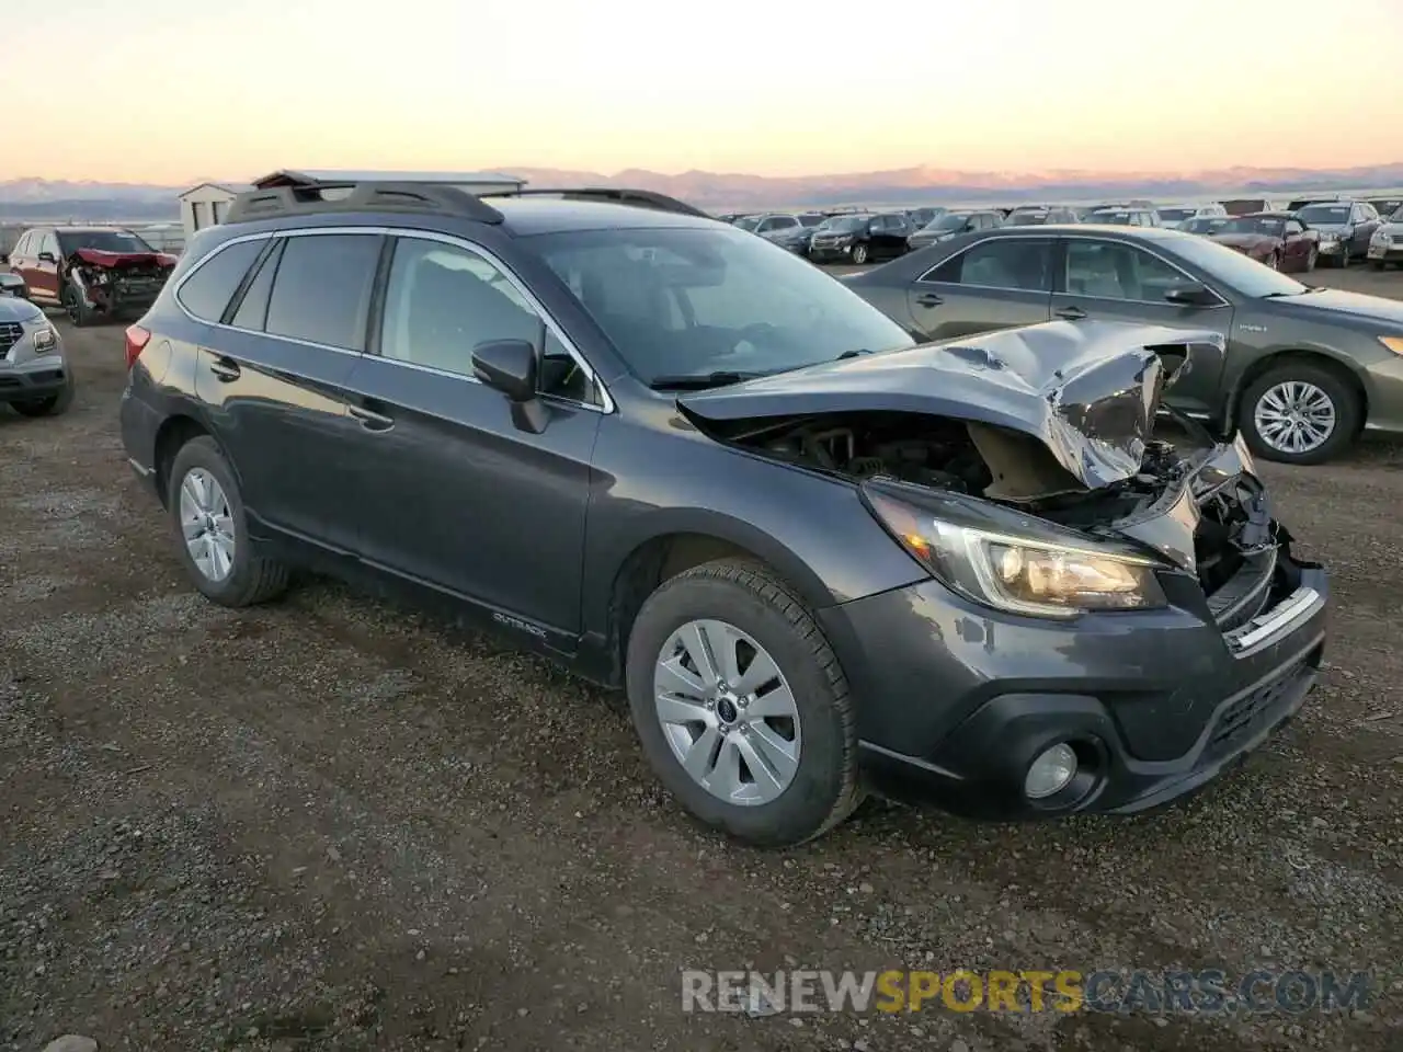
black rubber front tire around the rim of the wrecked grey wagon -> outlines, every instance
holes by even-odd
[[[793,699],[797,766],[779,795],[766,802],[731,802],[724,793],[709,788],[687,773],[676,752],[676,738],[669,739],[669,731],[676,734],[679,725],[664,729],[655,682],[659,663],[673,654],[680,630],[703,621],[724,623],[734,630],[731,638],[746,637],[758,644],[756,659],[767,656],[779,670],[776,692],[787,690]],[[718,658],[716,666],[724,669],[725,662]],[[770,569],[741,560],[718,560],[664,582],[648,596],[634,621],[626,682],[633,722],[648,763],[669,793],[702,822],[755,846],[784,847],[821,836],[861,802],[857,722],[847,680],[808,607]],[[738,685],[746,690],[744,675]],[[772,697],[756,690],[749,704],[759,708],[762,699]],[[717,715],[721,711],[720,706],[714,707]],[[700,724],[694,731],[697,742],[707,734]],[[716,741],[716,748],[724,752],[727,741]],[[742,743],[765,752],[756,749],[752,739],[742,739]],[[723,752],[714,753],[714,767],[709,764],[713,777],[721,771]],[[748,755],[742,752],[746,770]],[[763,778],[753,770],[751,774],[759,787]]]

